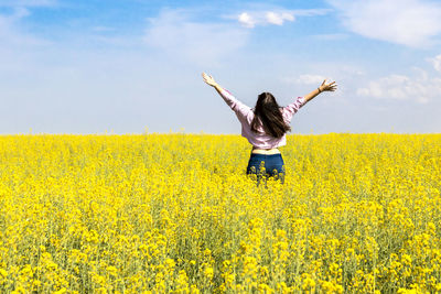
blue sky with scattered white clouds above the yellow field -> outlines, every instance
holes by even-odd
[[[254,107],[325,92],[293,133],[441,131],[441,2],[0,0],[0,133],[240,133],[206,72]]]

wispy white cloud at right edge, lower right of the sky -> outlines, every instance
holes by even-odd
[[[426,70],[417,68],[419,75],[389,75],[369,81],[365,87],[357,89],[358,96],[378,99],[416,100],[427,104],[439,97],[441,78],[429,77]]]

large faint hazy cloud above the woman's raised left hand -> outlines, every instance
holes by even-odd
[[[148,45],[197,64],[217,63],[247,43],[247,30],[216,22],[193,22],[180,10],[163,11],[150,19]]]

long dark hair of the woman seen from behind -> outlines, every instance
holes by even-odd
[[[257,128],[260,124],[262,124],[267,134],[276,138],[281,138],[286,132],[291,131],[291,127],[283,120],[280,108],[272,94],[267,91],[260,94],[254,110],[255,118],[251,121],[251,131],[258,132]]]

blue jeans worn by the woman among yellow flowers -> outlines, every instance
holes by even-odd
[[[248,161],[247,174],[257,175],[257,185],[259,185],[261,178],[267,179],[270,176],[273,176],[276,179],[280,179],[281,183],[283,184],[284,162],[282,159],[282,154],[251,153]]]

